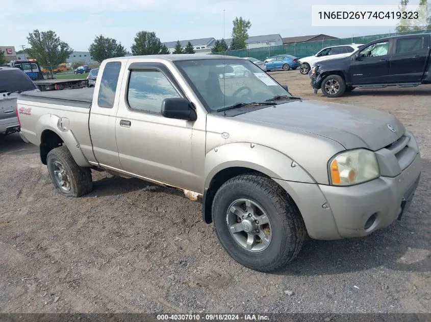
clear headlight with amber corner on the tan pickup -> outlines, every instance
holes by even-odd
[[[350,186],[380,177],[375,153],[358,149],[340,153],[329,161],[329,178],[334,186]]]

